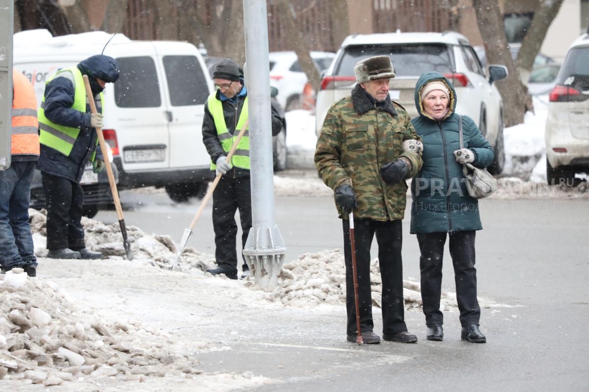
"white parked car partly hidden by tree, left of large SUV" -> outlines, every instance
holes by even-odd
[[[332,52],[311,52],[310,54],[319,72],[327,69],[335,58],[335,53]],[[301,109],[300,95],[309,79],[300,68],[296,53],[293,51],[270,52],[269,59],[270,83],[278,89],[276,99],[286,112]]]

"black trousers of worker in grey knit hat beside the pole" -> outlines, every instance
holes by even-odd
[[[221,177],[213,192],[213,229],[215,232],[215,259],[217,265],[228,273],[237,272],[237,223],[235,213],[239,209],[242,249],[252,228],[252,189],[250,177]],[[247,269],[243,258],[244,269]]]

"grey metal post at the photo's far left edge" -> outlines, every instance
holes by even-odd
[[[10,166],[14,1],[0,0],[0,170]]]

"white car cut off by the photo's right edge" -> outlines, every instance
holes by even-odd
[[[589,32],[577,38],[549,95],[546,174],[549,184],[574,185],[589,172]]]

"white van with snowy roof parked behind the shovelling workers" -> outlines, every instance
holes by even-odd
[[[201,128],[213,82],[194,45],[105,32],[52,37],[47,30],[24,31],[14,35],[14,68],[34,83],[40,103],[45,81],[58,69],[103,49],[121,71],[103,103],[120,189],[166,187],[176,201],[201,195],[212,179]]]

